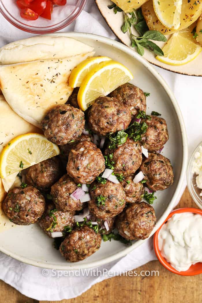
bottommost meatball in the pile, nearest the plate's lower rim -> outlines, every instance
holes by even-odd
[[[101,245],[101,235],[87,225],[76,228],[60,245],[60,252],[69,262],[78,262],[90,257]]]

